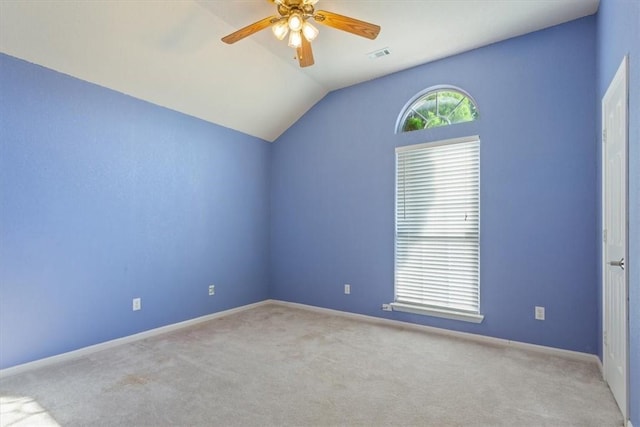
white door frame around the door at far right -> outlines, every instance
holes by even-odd
[[[606,139],[606,135],[605,135],[605,129],[606,129],[606,117],[605,117],[605,110],[604,110],[604,100],[605,97],[607,95],[607,93],[609,92],[609,89],[611,89],[611,87],[613,87],[614,83],[616,83],[619,79],[623,79],[623,84],[625,87],[625,104],[626,104],[626,128],[624,130],[625,132],[625,144],[624,144],[624,151],[625,151],[625,193],[624,193],[624,197],[625,197],[625,203],[624,203],[624,210],[625,210],[625,224],[624,224],[624,234],[625,234],[625,248],[624,248],[624,259],[627,263],[627,268],[628,268],[628,260],[629,260],[629,56],[625,55],[622,58],[622,62],[620,63],[620,66],[618,67],[614,77],[611,79],[611,81],[609,82],[609,85],[607,86],[607,89],[605,90],[604,95],[602,96],[601,99],[601,120],[602,120],[602,129],[601,129],[601,139],[600,139],[600,152],[601,152],[601,191],[600,191],[600,205],[601,205],[601,223],[600,223],[600,243],[601,243],[601,270],[602,270],[602,281],[601,281],[601,287],[600,290],[602,292],[602,329],[601,329],[601,337],[602,337],[602,374],[603,377],[605,377],[605,381],[606,381],[606,366],[605,366],[605,362],[606,362],[606,347],[605,347],[605,319],[606,319],[606,314],[607,314],[607,307],[606,307],[606,299],[605,299],[605,284],[606,284],[606,268],[608,265],[608,260],[607,258],[607,253],[606,253],[606,248],[605,248],[605,239],[604,239],[604,230],[605,230],[605,184],[606,184],[606,174],[605,174],[605,148],[604,148],[604,144],[605,144],[605,139]],[[628,270],[627,270],[628,271]],[[624,319],[624,340],[625,340],[625,349],[626,349],[626,355],[624,357],[624,364],[625,364],[625,376],[624,376],[624,399],[625,399],[625,412],[623,413],[622,416],[624,418],[624,425],[627,426],[629,425],[629,382],[630,382],[630,376],[629,376],[629,274],[627,273],[625,275],[625,283],[624,286],[626,288],[626,301],[625,306],[626,306],[626,316]],[[608,383],[608,382],[607,382]]]

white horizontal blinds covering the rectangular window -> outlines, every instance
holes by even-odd
[[[478,313],[477,137],[396,150],[396,301]]]

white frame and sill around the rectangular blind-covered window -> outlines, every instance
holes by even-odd
[[[419,304],[419,303],[411,303],[409,301],[398,300],[398,249],[399,249],[399,240],[398,240],[398,213],[399,213],[399,201],[400,201],[400,191],[402,191],[405,187],[400,187],[400,165],[399,165],[399,153],[407,152],[407,151],[416,151],[416,150],[425,150],[425,149],[437,149],[438,147],[451,146],[454,144],[463,144],[463,143],[476,143],[477,147],[474,147],[474,150],[477,150],[477,168],[475,170],[477,176],[473,179],[477,181],[477,189],[475,190],[475,197],[477,199],[477,228],[475,228],[475,241],[477,241],[477,246],[475,247],[475,254],[477,254],[477,264],[475,270],[475,286],[477,292],[477,311],[468,310],[468,309],[456,309],[452,307],[447,307],[444,304]],[[476,154],[476,153],[474,153]],[[480,137],[478,135],[470,136],[470,137],[462,137],[462,138],[454,138],[447,139],[436,142],[428,142],[423,144],[414,144],[409,146],[402,146],[396,148],[396,183],[395,183],[395,212],[394,212],[394,302],[391,303],[391,307],[394,311],[404,311],[414,314],[423,314],[435,317],[444,317],[448,319],[455,320],[463,320],[473,323],[480,323],[484,319],[484,315],[481,314],[481,306],[480,306]],[[406,180],[403,180],[403,185],[406,185]],[[403,193],[404,194],[404,193]],[[406,273],[406,271],[405,271]],[[407,285],[405,285],[406,287]],[[433,290],[433,288],[431,288]],[[406,289],[405,289],[406,291]],[[448,289],[448,292],[450,289]],[[429,292],[427,292],[429,293]],[[449,294],[451,295],[451,294]]]

